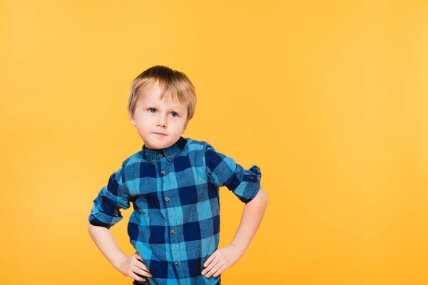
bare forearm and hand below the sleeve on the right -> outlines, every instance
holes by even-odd
[[[267,194],[262,187],[250,202],[245,204],[243,215],[233,241],[226,247],[217,249],[205,261],[202,274],[207,278],[218,276],[233,266],[248,249],[255,233],[262,222],[267,207]]]

